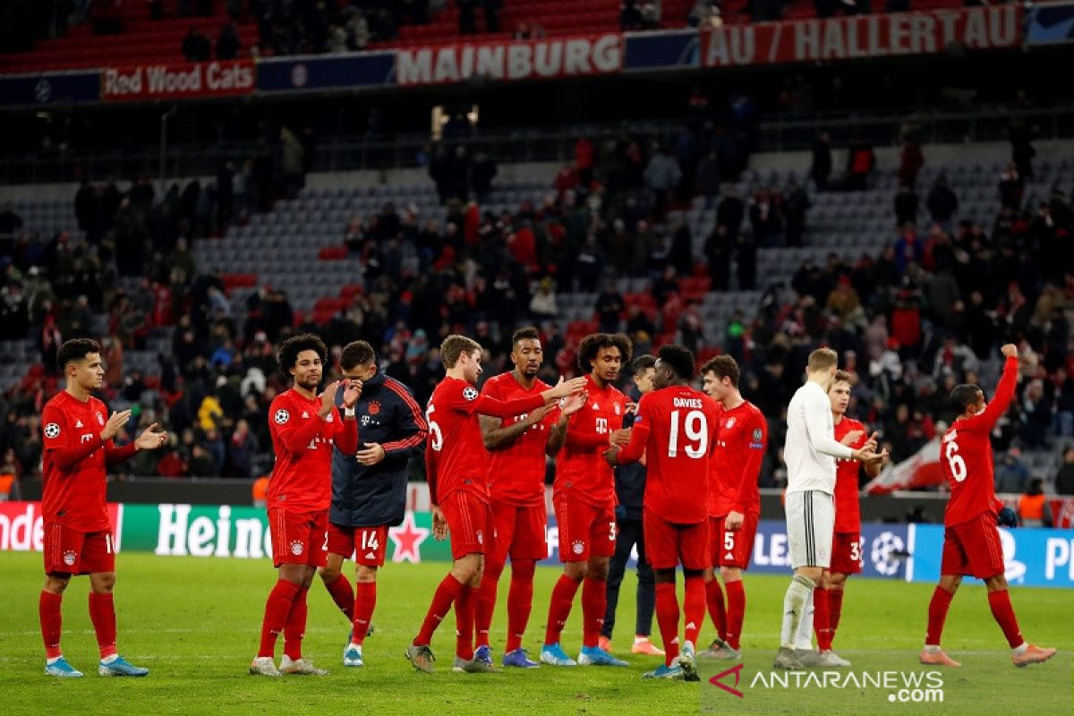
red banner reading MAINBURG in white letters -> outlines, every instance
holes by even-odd
[[[471,78],[542,79],[613,74],[623,69],[623,35],[545,38],[404,47],[395,54],[395,83],[445,85]]]

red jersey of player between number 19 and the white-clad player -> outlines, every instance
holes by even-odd
[[[760,463],[768,444],[768,421],[749,400],[727,410],[720,405],[709,471],[710,517],[728,512],[760,514]]]

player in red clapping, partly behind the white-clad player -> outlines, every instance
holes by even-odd
[[[850,448],[863,448],[867,442],[875,442],[876,435],[868,436],[866,426],[846,417],[851,404],[851,374],[836,371],[836,378],[828,390],[831,400],[831,419],[834,423],[834,439]],[[881,463],[865,466],[870,478],[880,474]],[[843,587],[846,578],[861,572],[861,509],[858,505],[858,472],[860,463],[856,459],[836,461],[836,532],[831,540],[831,566],[821,573],[821,582],[813,590],[813,627],[816,629],[816,644],[821,654],[819,667],[848,667],[851,662],[831,651],[836,639],[839,617],[843,612]]]

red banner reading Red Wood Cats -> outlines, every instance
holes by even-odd
[[[110,67],[101,70],[101,100],[145,102],[252,94],[257,78],[252,60]]]

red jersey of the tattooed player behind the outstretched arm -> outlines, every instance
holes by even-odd
[[[527,391],[511,371],[490,378],[481,389],[481,395],[506,401],[540,395],[549,388],[543,381],[535,380]],[[513,425],[525,418],[525,413],[504,418],[500,427]],[[514,438],[509,445],[488,451],[493,499],[518,507],[545,503],[545,449],[548,447],[549,430],[558,418],[558,408],[553,408],[541,422]]]

